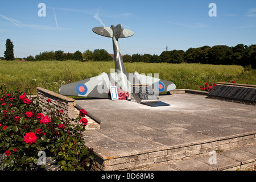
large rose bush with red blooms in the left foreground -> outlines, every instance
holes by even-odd
[[[93,150],[84,146],[86,111],[81,110],[76,119],[61,115],[62,110],[42,110],[26,93],[0,87],[0,151],[5,153],[2,168],[6,170],[31,170],[39,165],[39,151],[56,159],[62,170],[88,170],[92,164]],[[47,114],[43,114],[49,111]],[[1,165],[1,164],[0,164]]]

